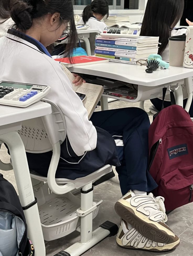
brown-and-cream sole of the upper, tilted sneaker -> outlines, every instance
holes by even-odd
[[[171,244],[175,242],[175,234],[162,222],[149,220],[142,213],[138,212],[130,203],[120,199],[115,203],[116,213],[140,234],[157,243]]]

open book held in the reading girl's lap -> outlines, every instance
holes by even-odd
[[[87,97],[83,101],[84,107],[88,111],[88,118],[92,116],[96,105],[98,104],[104,89],[102,85],[93,85],[92,83],[82,83],[80,86],[75,86],[72,82],[74,81],[75,77],[73,74],[61,63],[65,74],[67,75],[68,79],[70,80],[72,84],[72,88],[75,92],[83,93]]]

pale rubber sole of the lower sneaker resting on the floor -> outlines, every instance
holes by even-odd
[[[127,248],[127,249],[137,249],[137,250],[148,250],[148,251],[153,251],[153,252],[165,252],[165,251],[170,251],[170,250],[174,250],[176,247],[178,247],[178,245],[180,244],[180,239],[176,236],[175,238],[176,242],[171,243],[171,244],[166,244],[162,247],[160,246],[156,246],[155,248],[153,248],[152,246],[149,248],[135,248],[131,245],[123,245],[122,244],[122,240],[119,239],[118,237],[116,238],[116,242],[120,247],[123,248]]]

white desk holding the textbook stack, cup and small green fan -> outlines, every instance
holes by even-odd
[[[193,92],[193,69],[187,69],[184,67],[170,67],[168,70],[158,69],[152,74],[147,74],[145,69],[146,66],[105,62],[100,64],[71,67],[70,71],[80,74],[111,78],[138,85],[138,95],[134,100],[103,95],[104,97],[102,97],[103,99],[101,102],[103,104],[103,110],[108,109],[108,102],[106,97],[128,102],[150,100],[152,98],[161,97],[162,88],[168,87],[169,85],[173,85],[176,88],[176,103],[180,106],[183,106],[183,94],[180,82],[183,83],[184,79],[186,79],[185,81],[189,94],[187,107],[190,107]],[[178,85],[176,86],[176,83],[178,82],[179,87]],[[169,93],[169,91],[167,93]]]

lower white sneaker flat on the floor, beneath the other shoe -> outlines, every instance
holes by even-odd
[[[128,249],[163,252],[176,248],[180,244],[180,239],[175,236],[175,242],[173,243],[157,243],[145,238],[130,224],[126,223],[124,220],[121,220],[116,242],[119,246]]]

